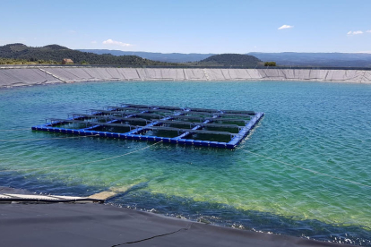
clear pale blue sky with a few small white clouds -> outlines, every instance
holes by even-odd
[[[371,0],[2,0],[0,6],[0,45],[371,53]]]

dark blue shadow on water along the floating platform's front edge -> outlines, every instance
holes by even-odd
[[[142,149],[156,144],[153,141],[131,141],[96,136],[84,137],[59,132],[32,131],[32,133],[35,134],[34,139],[40,139],[39,141],[34,141],[38,145],[47,144],[47,146],[64,149],[68,152],[83,150],[84,152],[104,153],[112,156],[116,156],[117,154],[122,155],[125,152],[135,151],[136,149]],[[64,138],[66,139],[64,140]],[[130,149],[126,149],[127,147]],[[151,149],[155,149],[156,152],[151,152],[151,155],[145,155]],[[142,159],[151,159],[150,163],[155,166],[159,166],[156,161],[160,161],[161,164],[166,166],[173,166],[174,164],[184,163],[186,161],[190,165],[194,164],[194,166],[198,167],[212,165],[213,168],[216,166],[229,167],[235,164],[233,157],[235,156],[236,149],[186,146],[165,142],[156,144],[151,149],[146,149],[135,155],[140,156]]]

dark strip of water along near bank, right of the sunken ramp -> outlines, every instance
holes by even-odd
[[[142,186],[140,186],[142,187]],[[170,217],[273,234],[287,234],[325,242],[371,246],[371,231],[361,226],[335,226],[315,219],[297,219],[255,210],[241,210],[227,204],[152,194],[140,187],[117,195],[108,203],[129,209],[146,210]]]

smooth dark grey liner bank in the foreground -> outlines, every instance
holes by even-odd
[[[342,246],[92,203],[5,204],[0,209],[2,246]]]

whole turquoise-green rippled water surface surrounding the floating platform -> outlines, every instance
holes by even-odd
[[[0,186],[80,196],[115,188],[122,193],[109,202],[122,207],[371,245],[370,99],[371,85],[297,81],[1,89]],[[47,117],[120,102],[255,110],[265,116],[237,150],[162,143],[142,149],[153,143],[30,131]],[[19,130],[4,131],[9,129]],[[137,149],[142,150],[82,164]]]

